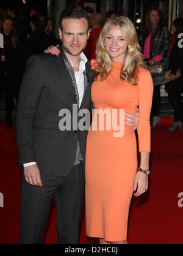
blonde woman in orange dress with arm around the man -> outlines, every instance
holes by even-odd
[[[140,164],[138,168],[135,133],[126,124],[121,137],[113,136],[114,129],[88,131],[86,228],[87,236],[99,238],[99,243],[127,243],[132,193],[135,191],[137,197],[148,189],[153,84],[142,64],[143,55],[131,20],[114,17],[107,21],[98,39],[96,60],[91,61],[95,70],[91,100],[96,110],[117,110],[116,122],[120,109],[134,114],[138,106]],[[94,114],[95,121],[98,118]]]

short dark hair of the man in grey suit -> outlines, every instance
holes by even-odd
[[[59,25],[60,25],[60,29],[62,30],[62,21],[64,19],[76,19],[79,20],[81,18],[85,18],[87,20],[88,23],[88,30],[90,28],[90,18],[88,16],[88,14],[81,8],[81,7],[67,7],[65,8],[62,13],[60,14],[60,19],[59,19]]]

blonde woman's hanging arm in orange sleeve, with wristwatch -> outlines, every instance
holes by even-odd
[[[149,152],[151,151],[151,135],[150,135],[150,113],[152,105],[153,83],[151,73],[146,69],[140,69],[138,79],[138,144],[140,151],[140,168],[149,169]],[[145,192],[148,187],[148,176],[142,171],[137,171],[135,176],[134,191],[135,196]]]

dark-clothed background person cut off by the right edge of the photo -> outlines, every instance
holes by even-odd
[[[183,55],[182,49],[178,47],[178,35],[183,33],[183,18],[176,18],[172,23],[173,35],[171,36],[171,46],[170,46],[170,61],[168,65],[168,70],[170,71],[170,81],[165,85],[165,89],[168,92],[168,99],[174,110],[174,121],[171,127],[168,128],[170,131],[174,131],[183,124],[183,111],[181,104],[181,92],[183,91]],[[178,69],[181,69],[180,74],[176,74]]]

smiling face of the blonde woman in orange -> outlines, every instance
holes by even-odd
[[[114,26],[107,33],[105,48],[112,61],[124,63],[127,43],[120,26]]]

